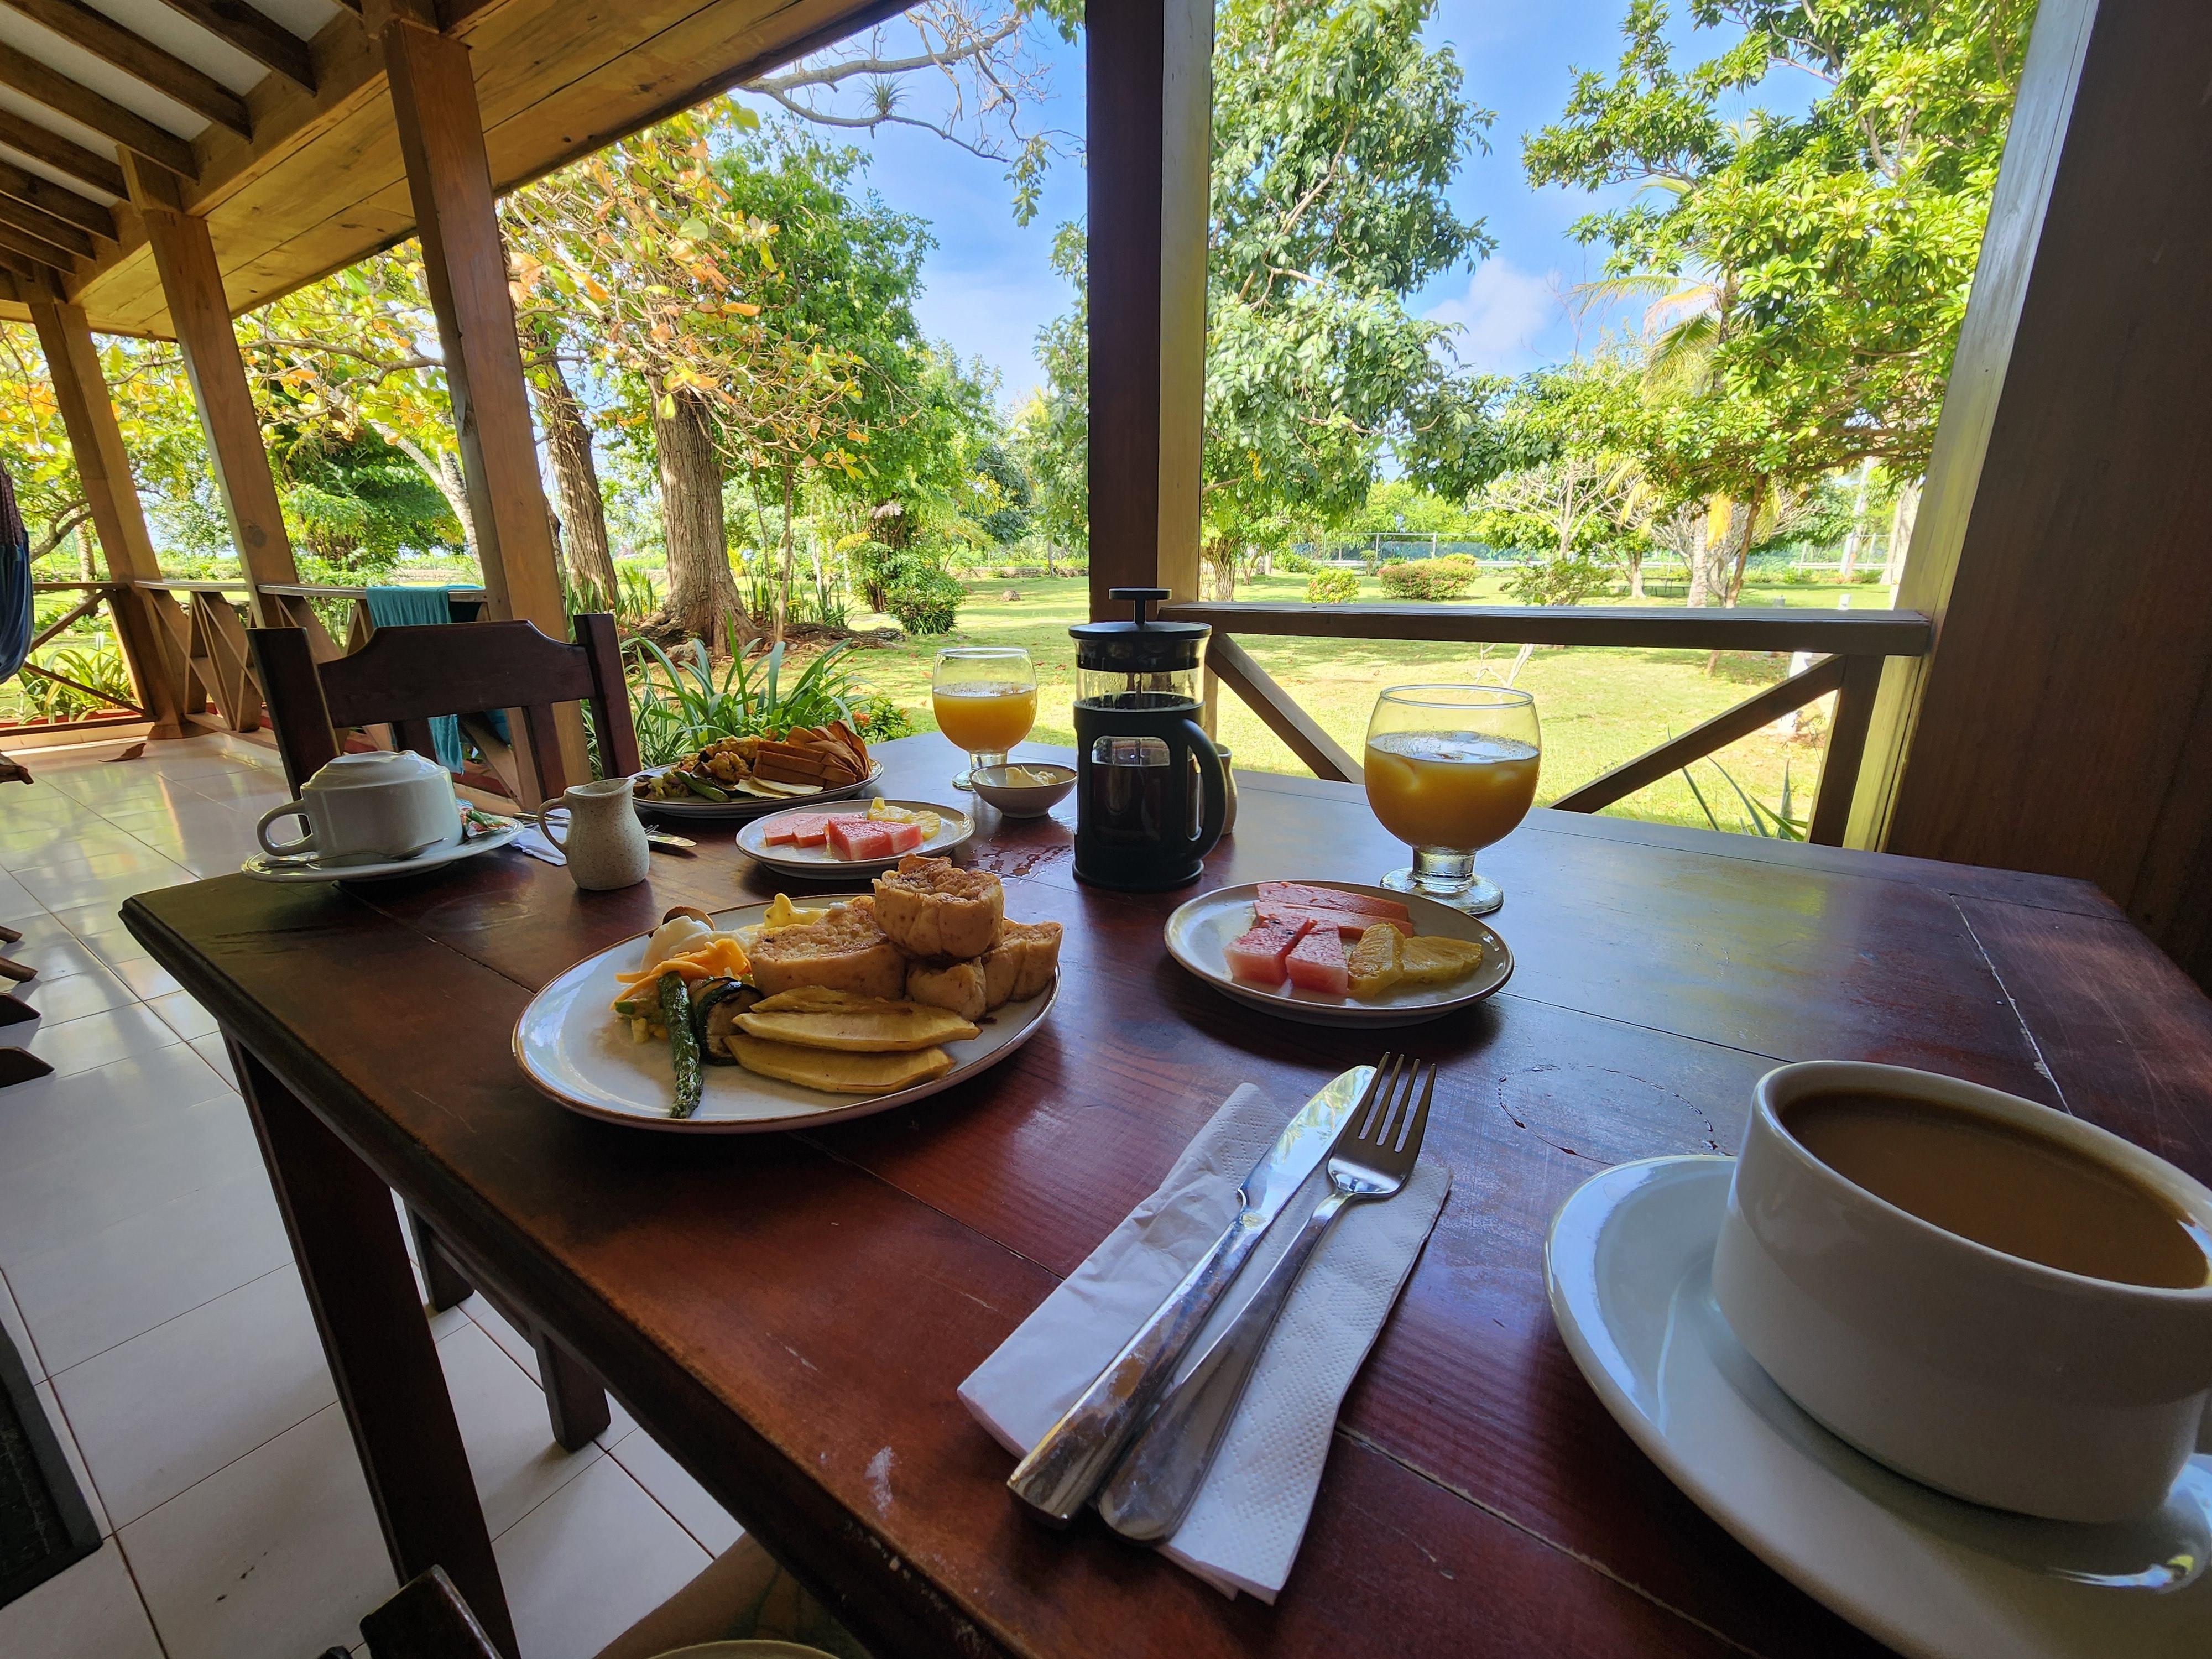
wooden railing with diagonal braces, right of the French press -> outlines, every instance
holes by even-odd
[[[1298,708],[1237,635],[1305,639],[1433,639],[1462,646],[1644,646],[1663,650],[1787,650],[1818,659],[1703,726],[1624,761],[1551,805],[1597,812],[1750,737],[1790,710],[1836,692],[1820,790],[1807,838],[1840,845],[1867,750],[1874,692],[1889,657],[1924,657],[1933,628],[1918,611],[1630,611],[1615,606],[1473,604],[1168,604],[1161,617],[1203,622],[1208,717],[1217,684],[1234,690],[1316,776],[1360,781],[1360,765]]]

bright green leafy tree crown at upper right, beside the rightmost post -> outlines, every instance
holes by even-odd
[[[1584,71],[1524,142],[1531,184],[1639,184],[1582,219],[1619,288],[1657,292],[1644,476],[1728,507],[1732,566],[1772,498],[1876,458],[1927,465],[1995,184],[2033,0],[1694,0],[1734,24],[1679,69],[1632,0],[1613,80]],[[1725,100],[1818,84],[1803,115]]]

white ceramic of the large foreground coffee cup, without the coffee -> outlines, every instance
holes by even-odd
[[[2051,1106],[1905,1066],[1759,1079],[1712,1259],[1736,1340],[1805,1411],[1898,1473],[1995,1509],[2112,1522],[2212,1451],[2212,1285],[2046,1267],[1878,1199],[1785,1126],[1809,1095],[1885,1095],[2046,1137],[2148,1188],[2199,1241],[2212,1192]]]

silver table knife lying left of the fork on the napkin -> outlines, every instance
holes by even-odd
[[[1066,1526],[1106,1482],[1106,1473],[1175,1376],[1175,1367],[1206,1325],[1206,1316],[1221,1301],[1221,1292],[1259,1248],[1267,1223],[1283,1210],[1290,1194],[1327,1157],[1336,1130],[1343,1128],[1371,1077],[1374,1066],[1354,1066],[1329,1079],[1318,1095],[1298,1108],[1274,1146],[1261,1155],[1237,1188],[1241,1208],[1237,1219],[1214,1239],[1214,1248],[1183,1274],[1183,1283],[1168,1292],[1168,1298],[1106,1363],[1082,1398],[1062,1411],[1060,1420],[1015,1464],[1013,1475],[1006,1478],[1006,1491],[1029,1504],[1044,1522]]]

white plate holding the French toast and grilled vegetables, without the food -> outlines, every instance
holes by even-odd
[[[854,894],[825,894],[807,905],[841,905]],[[759,922],[768,905],[743,905],[714,914],[714,927],[739,929]],[[743,1066],[706,1066],[699,1110],[670,1117],[675,1068],[666,1042],[630,1042],[624,1020],[608,1013],[619,993],[617,971],[633,971],[644,956],[644,933],[635,933],[597,956],[588,956],[555,978],[515,1022],[515,1062],[531,1086],[562,1106],[613,1124],[668,1128],[692,1135],[759,1135],[765,1130],[816,1128],[849,1117],[872,1117],[894,1106],[936,1095],[989,1071],[1044,1024],[1060,995],[1060,975],[1026,1002],[993,1009],[975,1024],[982,1035],[947,1042],[953,1068],[936,1082],[894,1088],[887,1095],[830,1095]]]

